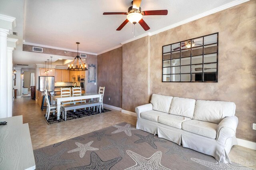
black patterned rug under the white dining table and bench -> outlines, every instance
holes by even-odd
[[[111,111],[109,109],[102,109],[101,110],[101,113],[106,113],[108,111]],[[72,119],[78,119],[78,118],[81,118],[81,117],[86,117],[86,116],[91,116],[91,115],[97,115],[97,114],[100,114],[100,111],[96,111],[96,108],[95,108],[95,111],[93,111],[93,109],[76,109],[76,112],[74,112],[73,110],[70,110],[70,111],[67,111],[67,121],[68,120],[72,120]],[[44,114],[44,117],[45,117],[45,114]],[[57,120],[57,113],[55,115],[52,114],[52,112],[50,113],[50,116],[49,116],[49,119],[45,119],[46,122],[48,124],[54,124],[54,123],[60,123],[62,121],[64,121],[64,117],[62,119],[62,113],[60,113],[60,120]]]

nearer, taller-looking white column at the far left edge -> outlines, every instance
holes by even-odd
[[[0,118],[7,117],[7,35],[8,29],[0,28]]]

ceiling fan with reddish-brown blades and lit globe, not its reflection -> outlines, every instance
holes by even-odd
[[[104,12],[103,15],[127,15],[126,20],[116,29],[120,31],[126,23],[129,21],[134,25],[139,23],[145,31],[148,31],[150,27],[142,19],[143,16],[153,16],[153,15],[167,15],[168,10],[151,10],[151,11],[142,11],[140,8],[141,0],[133,0],[132,6],[128,8],[128,12]]]

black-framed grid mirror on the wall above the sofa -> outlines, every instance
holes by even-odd
[[[164,45],[162,82],[218,82],[218,33]]]

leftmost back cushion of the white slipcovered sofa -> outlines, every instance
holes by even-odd
[[[150,103],[153,104],[153,110],[168,113],[172,102],[172,96],[162,96],[152,94]]]

